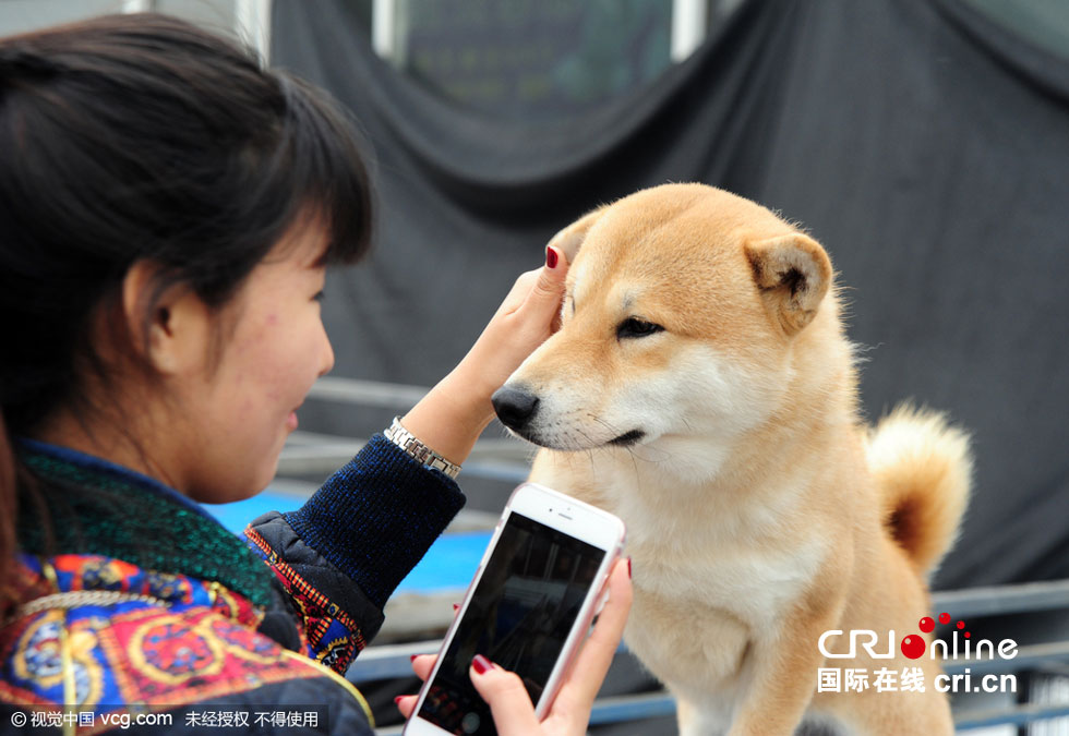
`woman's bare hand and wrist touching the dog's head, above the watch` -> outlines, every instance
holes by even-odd
[[[490,397],[560,322],[568,263],[546,248],[545,266],[523,274],[464,360],[401,424],[447,460],[461,463],[494,417]]]

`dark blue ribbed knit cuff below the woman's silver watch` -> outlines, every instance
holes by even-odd
[[[453,479],[376,434],[304,506],[283,516],[382,608],[464,500]]]

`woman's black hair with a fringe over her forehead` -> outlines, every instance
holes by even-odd
[[[361,146],[325,93],[178,19],[0,39],[8,433],[81,400],[84,371],[101,366],[91,321],[140,261],[156,267],[157,297],[183,283],[218,307],[303,217],[327,228],[325,263],[359,260],[372,196]]]

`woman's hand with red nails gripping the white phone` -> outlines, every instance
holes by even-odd
[[[630,599],[630,560],[623,559],[609,576],[609,601],[590,638],[582,644],[553,707],[541,722],[534,717],[534,707],[519,676],[497,666],[483,669],[484,662],[472,663],[468,674],[490,705],[500,736],[581,736],[587,733],[593,699],[624,634]],[[412,660],[412,669],[420,679],[425,680],[433,666],[434,656],[430,654]],[[416,696],[397,699],[397,709],[406,719],[411,716],[416,700]]]

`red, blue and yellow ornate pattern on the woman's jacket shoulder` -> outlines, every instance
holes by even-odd
[[[22,556],[16,576],[31,589],[39,568]],[[170,590],[187,603],[125,601],[46,610],[0,628],[0,701],[62,707],[61,630],[65,628],[75,703],[110,711],[132,703],[177,707],[284,680],[323,677],[312,662],[251,626],[260,616],[243,596],[184,576],[158,576],[120,560],[62,555],[52,560],[63,590],[86,580],[109,590]],[[88,571],[88,578],[72,577]],[[104,575],[99,575],[100,572]],[[111,574],[120,572],[111,579]],[[227,614],[236,614],[230,617]],[[244,619],[241,622],[240,619]]]

